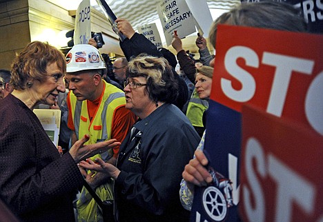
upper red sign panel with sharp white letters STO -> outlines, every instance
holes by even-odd
[[[323,134],[323,36],[219,25],[211,99],[256,105]]]

